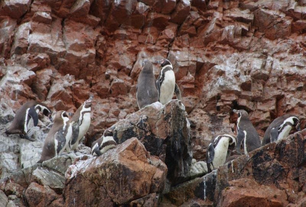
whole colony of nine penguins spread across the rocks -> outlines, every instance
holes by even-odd
[[[176,83],[171,62],[163,59],[156,63],[161,67],[157,79],[154,75],[153,64],[148,60],[142,63],[136,85],[136,100],[139,109],[158,101],[165,105],[172,100],[174,94],[176,94],[177,99],[181,99],[180,88]],[[93,96],[85,100],[73,116],[66,111],[56,112],[53,126],[45,139],[38,163],[59,156],[65,150],[69,153],[77,149],[91,124],[92,100]],[[33,121],[33,125],[37,126],[40,112],[52,120],[52,111],[46,104],[34,100],[26,102],[16,112],[12,124],[5,133],[8,135],[19,134],[21,138],[34,141],[35,139],[28,134],[29,123]],[[297,116],[283,115],[271,122],[262,141],[260,141],[247,111],[233,109],[233,112],[238,117],[236,122],[237,135],[221,133],[212,137],[206,153],[208,172],[230,160],[232,152],[235,152],[234,156],[236,157],[242,154],[242,148],[243,153],[247,154],[260,146],[285,138],[293,128],[300,130],[300,121]],[[111,127],[107,128],[103,135],[92,143],[91,154],[93,156],[100,156],[116,146],[113,130]]]

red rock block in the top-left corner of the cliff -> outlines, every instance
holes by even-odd
[[[2,16],[10,16],[11,18],[18,20],[27,12],[30,5],[31,0],[21,0],[18,2],[5,0],[2,2],[0,14]]]

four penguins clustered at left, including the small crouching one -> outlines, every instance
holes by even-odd
[[[67,111],[57,111],[53,119],[53,125],[49,130],[44,141],[42,154],[37,163],[49,160],[55,156],[60,156],[65,150],[69,153],[76,150],[83,136],[87,133],[91,123],[91,103],[93,96],[91,95],[73,114]],[[39,112],[48,116],[52,121],[52,110],[44,103],[35,100],[26,102],[17,110],[15,117],[6,130],[6,134],[19,134],[21,138],[35,141],[29,136],[31,130],[30,121],[37,126],[39,121]],[[112,137],[112,130],[106,129],[104,136],[95,143],[93,155],[101,155],[108,149],[114,148],[116,142]],[[96,150],[99,148],[99,151]]]

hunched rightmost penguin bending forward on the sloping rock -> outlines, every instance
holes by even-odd
[[[286,114],[277,117],[266,129],[261,146],[287,137],[293,127],[295,127],[297,131],[300,130],[299,119],[296,116]]]

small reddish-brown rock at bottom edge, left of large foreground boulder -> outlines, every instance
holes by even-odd
[[[48,185],[42,186],[36,182],[31,182],[25,192],[25,197],[29,206],[47,206],[59,197],[59,195]]]

